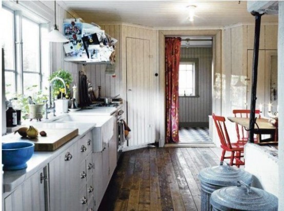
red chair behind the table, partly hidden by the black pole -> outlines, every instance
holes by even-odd
[[[233,110],[233,114],[235,114],[235,117],[241,117],[241,118],[250,118],[251,110]],[[260,118],[260,111],[255,110],[255,114],[257,118]],[[246,131],[244,127],[238,125],[236,123],[236,131],[237,131],[237,143],[239,144],[246,144],[248,142],[249,138],[249,131]],[[240,134],[241,133],[241,134]],[[254,138],[254,142],[257,142],[257,138]]]

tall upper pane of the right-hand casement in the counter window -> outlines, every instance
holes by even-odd
[[[39,25],[23,18],[24,71],[39,72]]]

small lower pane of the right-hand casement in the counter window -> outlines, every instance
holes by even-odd
[[[39,90],[39,74],[24,73],[24,95],[30,96]]]

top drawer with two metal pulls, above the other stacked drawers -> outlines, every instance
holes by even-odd
[[[89,152],[91,152],[92,149],[92,139],[91,139],[91,133],[87,133],[82,138],[80,138],[77,142],[77,153],[78,153],[78,160],[82,161],[86,159]]]

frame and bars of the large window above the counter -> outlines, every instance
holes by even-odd
[[[43,69],[42,69],[42,63],[43,63],[43,58],[42,58],[42,41],[43,41],[43,35],[42,35],[42,29],[43,28],[49,28],[49,22],[41,22],[39,20],[34,20],[30,18],[26,13],[23,14],[21,10],[13,10],[5,5],[2,5],[2,9],[5,9],[9,12],[13,13],[13,57],[14,57],[14,70],[12,69],[7,69],[5,68],[5,73],[13,73],[14,74],[14,90],[13,93],[18,93],[18,94],[25,94],[24,90],[24,74],[30,73],[30,74],[35,74],[38,80],[38,89],[43,90]],[[36,25],[38,25],[38,72],[32,71],[24,71],[24,52],[23,52],[23,23],[22,20],[26,19],[27,21],[30,21]],[[50,75],[50,44],[48,45],[48,64],[49,64],[49,72],[48,74]],[[12,96],[13,96],[12,93]],[[6,96],[5,96],[6,97]]]

